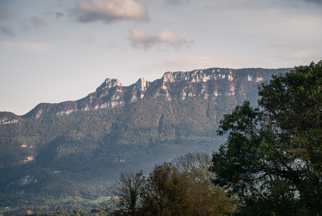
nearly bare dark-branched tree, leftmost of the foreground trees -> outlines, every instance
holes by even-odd
[[[144,182],[142,170],[137,173],[132,171],[121,173],[119,180],[114,184],[111,195],[114,215],[134,216],[139,214],[137,204]]]

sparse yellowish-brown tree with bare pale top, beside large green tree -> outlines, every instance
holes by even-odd
[[[215,174],[209,170],[212,158],[207,153],[187,153],[175,162],[190,181],[190,215],[224,215],[234,211],[233,200],[227,197],[223,188],[211,182]]]

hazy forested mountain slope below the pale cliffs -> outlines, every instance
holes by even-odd
[[[0,206],[55,210],[47,201],[104,196],[119,170],[148,172],[154,163],[186,151],[216,149],[222,141],[212,138],[217,123],[207,117],[207,107],[201,99],[146,99],[124,108],[0,125]],[[33,160],[24,162],[28,157]]]

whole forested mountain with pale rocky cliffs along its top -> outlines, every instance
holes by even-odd
[[[246,99],[256,106],[258,84],[290,69],[167,72],[130,86],[106,79],[77,101],[0,112],[0,207],[88,210],[120,171],[211,153],[225,141],[216,135],[223,115]]]

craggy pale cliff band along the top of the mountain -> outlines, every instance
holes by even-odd
[[[128,106],[145,97],[165,100],[188,100],[201,97],[213,100],[221,95],[234,95],[240,102],[254,94],[248,91],[249,86],[256,86],[259,82],[269,80],[271,74],[286,71],[289,69],[210,68],[190,72],[166,72],[161,79],[148,82],[145,78],[140,78],[130,86],[123,86],[118,79],[108,78],[95,92],[85,98],[58,104],[41,103],[22,117],[38,119],[99,108],[116,108]]]

